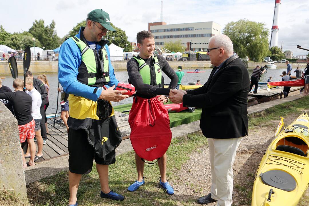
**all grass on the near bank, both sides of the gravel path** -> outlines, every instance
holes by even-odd
[[[123,107],[124,110],[125,107]],[[277,105],[269,108],[262,113],[252,114],[249,116],[249,128],[256,128],[268,124],[271,120],[279,122],[280,116],[288,114],[300,114],[304,110],[309,110],[308,97],[298,99],[292,102]],[[119,111],[119,110],[118,110]],[[179,114],[179,113],[178,113]],[[200,152],[201,146],[207,145],[206,138],[201,132],[193,133],[187,136],[174,138],[171,146],[167,151],[167,178],[169,181],[177,180],[177,172],[181,166],[189,160],[193,151]],[[190,170],[189,170],[190,171]],[[78,203],[80,205],[97,206],[97,205],[192,205],[196,201],[194,197],[178,197],[177,194],[167,195],[159,186],[158,166],[145,165],[146,184],[135,192],[127,191],[127,188],[136,179],[136,167],[134,163],[134,152],[128,152],[116,157],[116,164],[109,168],[110,188],[121,193],[126,197],[123,202],[105,200],[99,197],[100,185],[99,176],[96,172],[95,165],[92,172],[83,175],[78,188]],[[252,197],[254,174],[248,173],[247,178],[242,185],[235,184],[235,200],[239,205],[250,205]],[[201,188],[193,183],[185,184],[191,188],[200,191]],[[69,198],[68,173],[61,172],[57,175],[41,179],[38,182],[27,185],[28,198],[33,206],[66,206]],[[309,192],[307,192],[300,201],[299,206],[305,206],[309,203]],[[185,199],[185,200],[183,200]],[[0,202],[1,203],[1,202]],[[13,204],[12,204],[13,205]]]

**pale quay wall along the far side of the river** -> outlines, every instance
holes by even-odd
[[[171,68],[177,68],[179,65],[184,69],[192,69],[192,68],[210,68],[212,65],[210,61],[168,61],[168,64]],[[264,66],[265,62],[247,62],[248,68],[255,68],[256,65]],[[114,69],[117,70],[126,70],[127,69],[127,61],[112,61],[112,65]],[[276,63],[277,68],[286,67],[285,63]],[[303,68],[306,64],[296,64],[292,63],[292,68],[299,66]],[[23,62],[17,62],[18,73],[23,74]],[[30,69],[32,73],[49,73],[49,72],[57,72],[58,71],[58,61],[32,61],[30,64]],[[0,74],[11,74],[9,65],[6,61],[0,61]]]

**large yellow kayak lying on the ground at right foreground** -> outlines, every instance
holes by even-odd
[[[252,206],[294,206],[309,184],[309,117],[306,112],[270,143],[256,171]]]

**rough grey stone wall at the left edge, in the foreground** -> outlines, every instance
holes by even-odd
[[[0,102],[0,189],[13,190],[24,201],[27,188],[22,164],[17,120]]]

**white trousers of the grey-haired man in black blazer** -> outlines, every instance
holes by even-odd
[[[242,137],[233,139],[208,138],[211,164],[211,198],[218,206],[231,206],[233,195],[233,170],[236,150]]]

